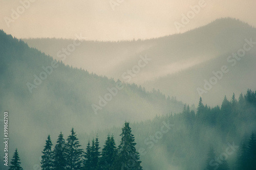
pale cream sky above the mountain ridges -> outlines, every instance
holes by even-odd
[[[191,12],[189,6],[203,0],[33,1],[24,8],[20,1],[0,0],[0,29],[17,38],[75,38],[75,34],[81,33],[87,40],[147,39],[178,33],[175,21],[181,23],[182,13]],[[113,10],[110,2],[118,6]],[[204,3],[180,29],[181,33],[220,17],[238,18],[256,27],[255,0],[205,0]]]

